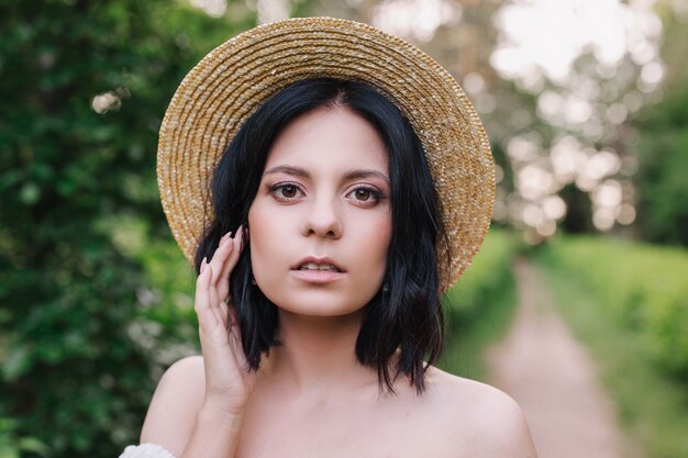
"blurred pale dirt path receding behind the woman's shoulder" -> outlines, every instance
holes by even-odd
[[[628,457],[613,405],[540,272],[519,261],[515,275],[519,310],[506,340],[488,354],[490,382],[523,407],[539,458]]]

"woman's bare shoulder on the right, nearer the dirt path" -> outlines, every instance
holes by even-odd
[[[428,388],[430,398],[442,403],[443,417],[451,418],[441,425],[445,437],[462,444],[458,454],[447,456],[536,457],[523,411],[503,391],[436,368],[429,369]]]

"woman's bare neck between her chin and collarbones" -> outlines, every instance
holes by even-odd
[[[270,349],[270,379],[296,395],[325,400],[362,387],[377,389],[377,371],[355,354],[363,313],[303,316],[279,312],[278,339]]]

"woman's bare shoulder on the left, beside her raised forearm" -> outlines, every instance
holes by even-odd
[[[182,358],[171,365],[155,389],[141,431],[142,443],[153,443],[181,456],[193,433],[206,394],[203,359]]]

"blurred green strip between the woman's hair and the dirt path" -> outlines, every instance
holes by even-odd
[[[485,353],[507,333],[515,311],[511,261],[517,249],[513,234],[490,231],[473,266],[447,292],[447,338],[440,368],[485,380]]]

